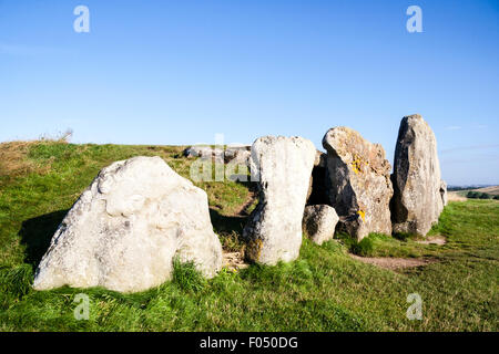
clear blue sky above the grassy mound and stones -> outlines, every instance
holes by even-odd
[[[73,9],[90,9],[77,33]],[[422,10],[409,33],[406,9]],[[0,0],[0,142],[248,143],[346,125],[391,162],[404,115],[449,184],[499,184],[499,2]]]

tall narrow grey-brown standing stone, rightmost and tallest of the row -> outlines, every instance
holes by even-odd
[[[435,134],[420,115],[403,118],[394,160],[394,232],[426,236],[444,209]]]

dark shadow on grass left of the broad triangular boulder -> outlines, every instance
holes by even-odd
[[[49,249],[52,236],[67,214],[68,210],[59,210],[22,222],[19,236],[21,243],[26,244],[24,262],[33,268],[40,263]]]

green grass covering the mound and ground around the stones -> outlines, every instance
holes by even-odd
[[[13,143],[9,143],[13,144]],[[98,171],[114,160],[157,155],[189,177],[181,146],[0,144],[0,331],[498,331],[499,204],[450,202],[430,235],[304,239],[298,260],[276,267],[222,270],[204,280],[192,264],[174,264],[172,281],[145,292],[61,288],[34,291],[33,271],[68,209]],[[12,156],[14,154],[14,157]],[[196,184],[208,195],[214,230],[226,250],[242,247],[240,215],[251,186]],[[254,202],[252,204],[254,205]],[[430,257],[438,262],[394,272],[352,259]],[[422,320],[406,317],[419,293]],[[90,298],[90,319],[77,321],[74,298]]]

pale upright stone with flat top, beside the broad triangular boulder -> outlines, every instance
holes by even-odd
[[[265,136],[253,144],[252,180],[258,181],[259,202],[243,230],[247,259],[273,266],[299,256],[315,152],[303,137]]]

